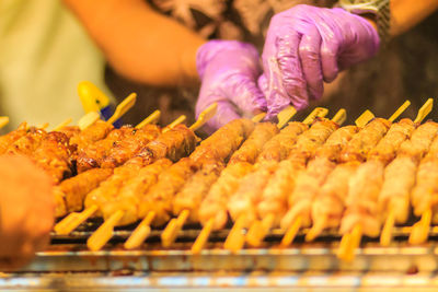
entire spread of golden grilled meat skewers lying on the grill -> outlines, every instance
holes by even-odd
[[[230,250],[260,246],[276,226],[285,230],[283,246],[301,227],[310,227],[307,241],[338,229],[339,257],[351,259],[362,234],[390,244],[392,226],[406,223],[411,208],[422,217],[411,243],[427,240],[437,221],[438,124],[420,124],[431,102],[414,120],[394,122],[405,103],[389,119],[366,112],[356,126],[344,127],[345,110],[330,120],[324,108],[284,127],[295,114],[288,108],[278,125],[257,122],[262,116],[237,119],[199,144],[194,130],[203,118],[163,129],[149,124],[153,118],[119,129],[102,120],[50,132],[22,125],[0,137],[0,153],[30,155],[53,174],[57,214],[68,214],[57,233],[90,217],[105,219],[88,241],[93,250],[114,226],[140,221],[126,248],[138,248],[151,226],[166,224],[161,237],[171,246],[184,224],[200,223],[192,248],[199,253],[210,232],[231,219]]]

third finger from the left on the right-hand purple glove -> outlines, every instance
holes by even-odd
[[[313,100],[320,100],[324,91],[320,48],[321,35],[316,27],[311,25],[307,27],[307,34],[301,37],[298,51],[308,85],[308,93],[310,98]]]

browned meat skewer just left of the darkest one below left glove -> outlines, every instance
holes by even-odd
[[[102,160],[101,166],[114,168],[124,164],[137,155],[149,142],[155,140],[160,133],[161,130],[155,125],[146,125],[141,129],[132,129],[131,132],[125,135],[124,139],[113,143]]]

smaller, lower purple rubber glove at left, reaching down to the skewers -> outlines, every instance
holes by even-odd
[[[212,103],[218,112],[204,129],[211,132],[241,116],[266,110],[266,100],[257,86],[262,73],[258,52],[250,44],[210,40],[197,51],[196,66],[201,80],[196,117]]]

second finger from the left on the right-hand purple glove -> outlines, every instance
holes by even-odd
[[[281,72],[281,82],[289,96],[289,101],[297,109],[309,105],[307,82],[302,72],[299,56],[301,36],[292,33],[278,40],[278,67]]]

